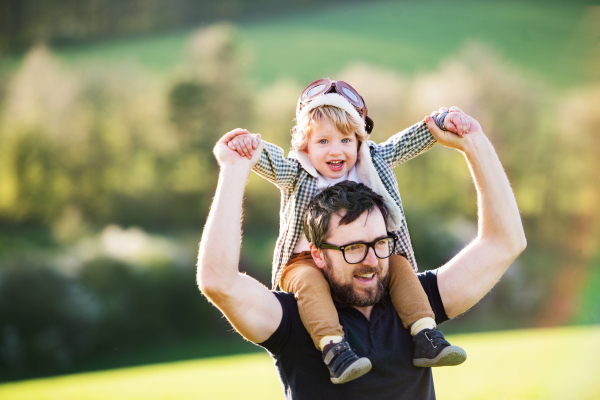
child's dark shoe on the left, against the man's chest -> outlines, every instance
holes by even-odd
[[[329,368],[331,382],[333,383],[346,383],[363,376],[371,370],[371,361],[366,357],[358,358],[346,339],[325,346],[323,348],[323,361]]]

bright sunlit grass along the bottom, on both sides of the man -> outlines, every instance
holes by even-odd
[[[467,350],[468,360],[434,370],[440,400],[600,398],[600,326],[450,339]],[[0,385],[2,400],[282,398],[273,362],[262,353]]]

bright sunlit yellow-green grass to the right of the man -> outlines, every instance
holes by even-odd
[[[468,359],[434,370],[440,400],[598,399],[600,326],[460,335]]]

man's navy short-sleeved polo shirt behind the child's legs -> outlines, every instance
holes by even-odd
[[[436,273],[426,271],[418,277],[436,322],[446,321]],[[373,369],[358,379],[334,385],[321,352],[302,325],[294,295],[274,294],[283,308],[281,324],[260,345],[275,361],[286,399],[435,399],[431,368],[412,365],[412,336],[402,326],[389,295],[373,306],[371,321],[357,309],[336,302],[346,340],[359,357],[371,360]]]

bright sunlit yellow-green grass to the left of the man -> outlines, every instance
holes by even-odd
[[[3,400],[278,399],[265,354],[116,369],[0,386]]]

